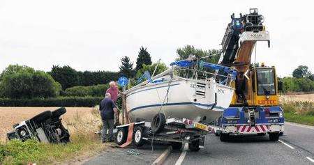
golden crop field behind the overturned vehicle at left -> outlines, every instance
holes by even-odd
[[[6,133],[12,130],[12,125],[27,120],[36,114],[54,110],[57,107],[0,107],[0,141],[6,141]],[[96,131],[100,125],[100,119],[93,115],[94,108],[88,107],[68,107],[67,112],[61,116],[63,125],[67,127],[71,133],[75,133],[80,124],[84,123],[84,127],[89,127],[90,132]],[[77,122],[80,123],[77,123]]]

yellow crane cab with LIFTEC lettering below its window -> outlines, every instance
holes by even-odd
[[[231,105],[275,106],[278,105],[278,91],[282,82],[276,77],[274,67],[251,67],[239,74],[234,84],[236,88]]]

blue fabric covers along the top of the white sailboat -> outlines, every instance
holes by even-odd
[[[190,67],[193,65],[193,61],[181,60],[181,61],[174,61],[170,63],[170,66],[177,65],[179,67]],[[237,77],[237,70],[234,70],[229,67],[225,67],[223,65],[217,65],[214,63],[202,63],[203,67],[209,68],[211,70],[223,70],[227,74],[232,74],[232,78]]]

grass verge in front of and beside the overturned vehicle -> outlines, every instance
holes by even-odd
[[[106,146],[100,143],[98,135],[94,134],[94,130],[99,127],[98,117],[96,113],[91,113],[91,116],[92,118],[87,118],[77,113],[70,123],[64,123],[70,131],[70,143],[39,143],[35,139],[1,143],[0,164],[59,164],[70,160],[75,162],[105,150]]]

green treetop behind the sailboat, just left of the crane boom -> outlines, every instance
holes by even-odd
[[[190,54],[197,56],[197,58],[203,58],[204,61],[208,63],[218,63],[219,57],[220,57],[220,51],[217,49],[211,49],[211,50],[202,50],[202,49],[196,49],[192,45],[186,45],[183,48],[177,49],[177,58],[176,60],[184,60],[190,56]],[[211,56],[211,57],[207,57]],[[206,58],[207,57],[207,58]]]

